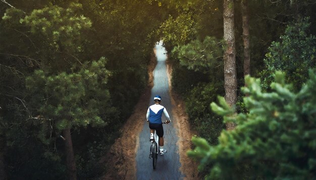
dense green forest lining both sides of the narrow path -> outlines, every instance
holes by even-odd
[[[0,179],[103,179],[160,40],[200,178],[316,178],[315,0],[0,0],[0,17]]]

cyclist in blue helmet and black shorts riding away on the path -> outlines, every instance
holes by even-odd
[[[156,133],[159,137],[159,148],[160,148],[160,154],[165,154],[167,152],[166,149],[164,149],[164,128],[162,123],[162,115],[165,114],[166,118],[168,119],[166,121],[167,124],[171,122],[170,116],[166,110],[165,107],[160,105],[162,102],[162,98],[159,95],[156,95],[153,98],[154,105],[149,106],[147,110],[147,122],[149,122],[149,128],[150,128],[150,141],[153,141],[153,133],[154,130],[156,130]]]

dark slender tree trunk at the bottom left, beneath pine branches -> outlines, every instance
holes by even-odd
[[[74,151],[72,148],[70,128],[63,130],[63,134],[65,136],[65,153],[66,153],[68,177],[71,180],[77,180],[76,161],[75,161]]]

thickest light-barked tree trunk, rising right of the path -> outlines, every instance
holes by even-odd
[[[225,78],[225,100],[230,106],[237,102],[237,77],[236,77],[236,48],[234,28],[234,1],[224,0],[224,78]],[[234,123],[227,123],[226,129],[235,128]]]

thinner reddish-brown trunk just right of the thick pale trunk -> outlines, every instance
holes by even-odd
[[[249,12],[248,0],[242,0],[242,38],[244,40],[244,76],[250,74],[250,49],[249,49]]]

